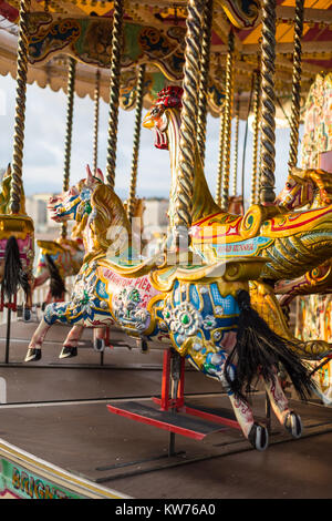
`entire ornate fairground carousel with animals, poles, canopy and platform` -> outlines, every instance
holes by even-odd
[[[1,496],[123,499],[116,480],[332,430],[331,8],[311,0],[1,0],[0,72],[17,81],[13,150],[3,159],[0,196],[1,381],[4,388],[15,382],[12,402],[21,403],[27,421],[28,402],[71,402],[75,436],[91,429],[79,405],[90,408],[102,435],[96,453],[95,439],[85,437],[79,449],[71,436],[72,448],[62,457],[60,443],[49,462],[59,440],[39,442],[31,418],[23,442],[11,400],[1,400],[9,426],[0,440]],[[53,241],[35,239],[25,211],[27,85],[34,82],[62,89],[68,99],[62,193],[48,205],[61,225]],[[92,164],[82,165],[73,184],[75,95],[94,101],[94,140]],[[108,104],[104,172],[101,100]],[[120,110],[135,111],[126,201],[116,187]],[[220,129],[212,185],[208,118]],[[276,121],[290,131],[287,172],[276,172]],[[151,146],[169,152],[168,227],[153,245],[137,196],[142,132],[152,133]],[[37,324],[39,286],[45,292]],[[84,338],[92,348],[85,353]],[[118,351],[110,349],[118,338]],[[56,370],[51,347],[59,351]],[[95,351],[100,367],[84,366]],[[156,364],[153,385],[148,357]],[[141,380],[125,377],[139,364]],[[74,370],[76,387],[66,394],[59,375]],[[89,389],[103,379],[95,396]],[[92,392],[86,400],[85,392]],[[50,413],[39,421],[51,430]],[[142,459],[133,450],[144,436],[157,447],[164,431],[166,453],[144,446]],[[118,447],[123,437],[131,450]]]

